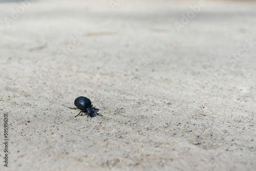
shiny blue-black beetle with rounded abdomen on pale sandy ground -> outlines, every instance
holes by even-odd
[[[95,117],[95,116],[103,116],[97,112],[99,112],[99,109],[97,108],[94,108],[93,105],[92,105],[92,102],[89,98],[87,97],[83,97],[83,96],[80,96],[80,97],[77,97],[75,99],[75,106],[77,106],[77,108],[70,108],[70,109],[78,109],[80,110],[80,113],[78,115],[82,115],[82,113],[87,113],[87,117]],[[77,117],[78,115],[76,115],[75,117]]]

